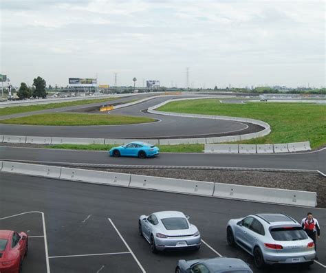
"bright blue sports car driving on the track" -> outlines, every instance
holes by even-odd
[[[126,145],[113,147],[110,151],[110,156],[137,156],[140,158],[153,157],[160,154],[160,149],[146,142],[131,142]]]

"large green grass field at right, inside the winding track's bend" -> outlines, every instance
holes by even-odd
[[[178,113],[254,118],[270,124],[272,132],[242,144],[275,144],[310,141],[312,149],[326,144],[326,105],[309,103],[248,102],[221,104],[219,100],[182,100],[157,109]]]

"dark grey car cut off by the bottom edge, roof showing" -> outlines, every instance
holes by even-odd
[[[213,258],[199,260],[179,260],[175,273],[252,273],[250,267],[242,260],[235,258]]]

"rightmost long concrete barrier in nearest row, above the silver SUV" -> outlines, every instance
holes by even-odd
[[[299,190],[283,190],[279,188],[215,183],[213,196],[296,206],[317,206],[316,193]]]

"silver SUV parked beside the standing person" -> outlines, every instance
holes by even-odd
[[[231,219],[226,228],[229,245],[239,245],[254,256],[257,268],[266,264],[314,263],[314,241],[292,217],[278,213]]]

